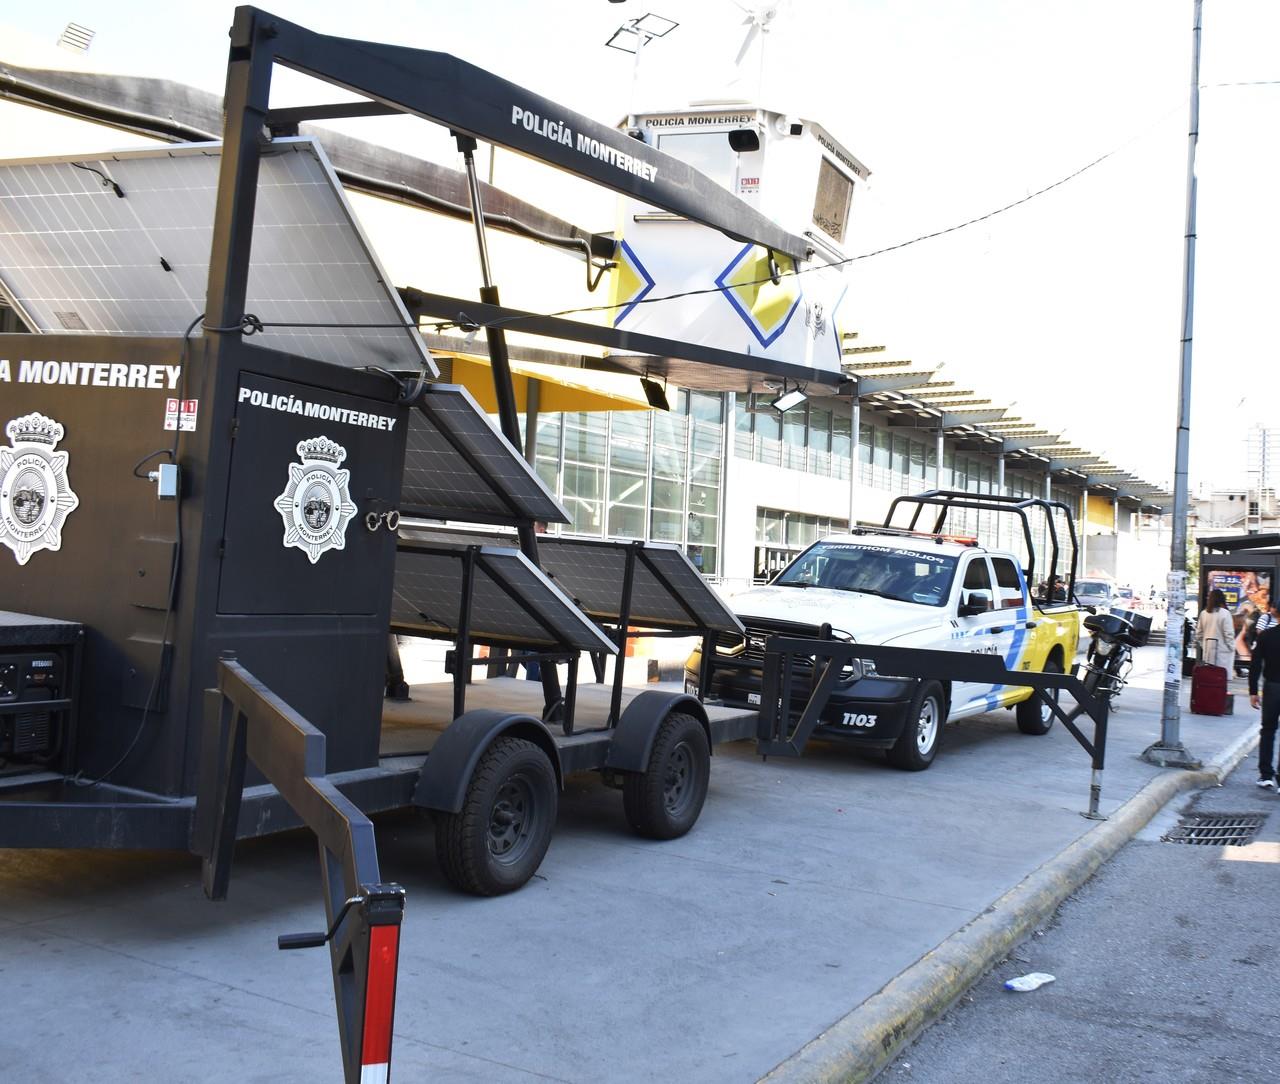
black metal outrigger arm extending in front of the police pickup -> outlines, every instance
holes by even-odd
[[[814,640],[800,636],[771,636],[764,645],[764,680],[760,689],[760,718],[758,749],[764,756],[800,756],[835,692],[841,669],[851,659],[874,663],[883,677],[909,677],[931,681],[969,681],[989,685],[1020,685],[1034,690],[1034,697],[1047,704],[1071,737],[1089,755],[1093,773],[1089,782],[1089,809],[1085,817],[1101,819],[1098,801],[1102,796],[1102,772],[1106,767],[1107,714],[1105,697],[1097,697],[1085,689],[1074,673],[1036,673],[1033,671],[1006,669],[995,655],[969,651],[938,651],[924,648],[888,648],[870,644],[851,644],[841,640]],[[792,724],[794,699],[804,695],[795,669],[803,660],[809,682],[805,706]],[[1048,695],[1052,690],[1068,692],[1078,710],[1064,712],[1057,700]],[[1093,721],[1093,740],[1089,741],[1075,726],[1075,719],[1087,714]],[[908,721],[910,726],[914,721]]]

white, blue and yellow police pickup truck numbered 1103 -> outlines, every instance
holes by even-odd
[[[1055,591],[1062,596],[1064,590]],[[977,541],[913,531],[836,535],[791,562],[772,584],[730,600],[746,636],[717,642],[709,699],[758,706],[764,644],[771,635],[832,635],[998,655],[1007,669],[1065,672],[1075,658],[1074,603],[1033,599],[1012,553]],[[685,664],[698,687],[700,653]],[[846,667],[814,737],[884,749],[891,764],[923,770],[933,763],[947,721],[1015,708],[1024,733],[1047,733],[1052,712],[1025,686],[886,677],[869,663]],[[799,710],[800,701],[792,705]]]

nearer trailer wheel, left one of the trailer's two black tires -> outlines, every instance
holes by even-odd
[[[439,814],[435,852],[449,882],[472,896],[520,888],[556,827],[556,772],[531,741],[499,737],[480,758],[460,813]]]

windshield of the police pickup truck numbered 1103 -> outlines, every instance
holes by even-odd
[[[791,562],[773,582],[780,587],[831,587],[940,607],[951,594],[955,571],[956,559],[945,553],[863,543],[818,543]]]

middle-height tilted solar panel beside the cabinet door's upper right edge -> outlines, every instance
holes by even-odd
[[[567,523],[568,513],[466,388],[430,384],[410,411],[401,512],[476,523]]]

